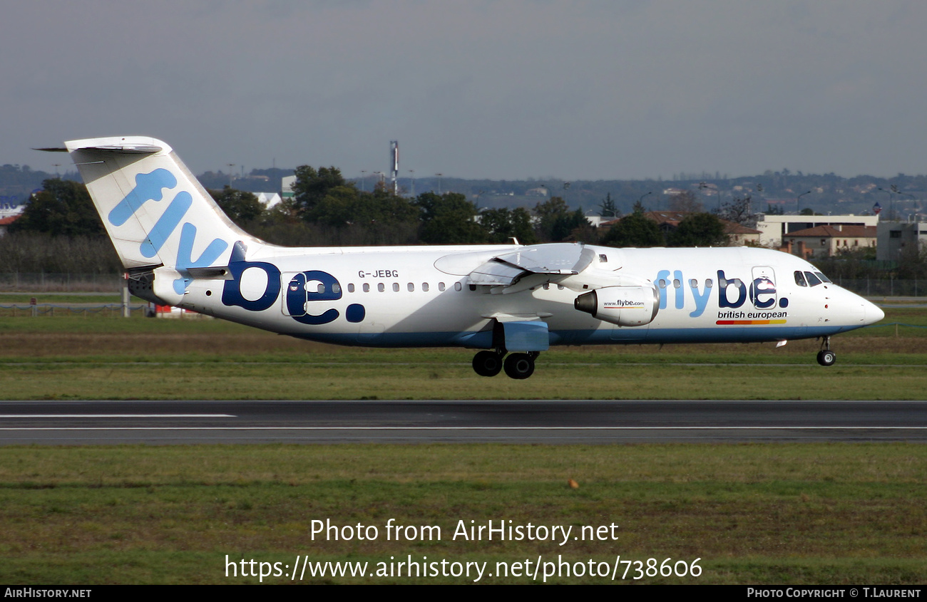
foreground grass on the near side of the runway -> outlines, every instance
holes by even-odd
[[[539,555],[614,561],[620,554],[659,562],[701,558],[699,578],[645,583],[923,583],[924,450],[901,444],[6,447],[0,448],[0,579],[257,581],[226,578],[225,555],[290,564],[297,554],[494,564]],[[578,489],[567,479],[578,481]],[[441,540],[387,541],[390,518],[438,526]],[[313,540],[311,520],[326,519],[338,527],[373,525],[379,536]],[[454,540],[459,520],[572,526],[574,535],[584,525],[619,526],[616,540],[559,546]]]

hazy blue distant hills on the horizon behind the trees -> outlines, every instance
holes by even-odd
[[[222,171],[207,171],[197,178],[206,188],[222,189],[231,184],[233,188],[252,193],[279,192],[281,180],[293,175],[293,169],[252,169],[247,175],[228,174]],[[27,165],[0,166],[0,202],[19,204],[29,194],[41,188],[42,182],[56,177],[41,170],[32,170]],[[66,171],[64,180],[80,180],[76,171]],[[375,180],[368,177],[364,182],[353,180],[359,188],[370,190]],[[879,203],[885,211],[895,209],[896,215],[905,219],[908,215],[927,213],[927,176],[908,176],[903,173],[892,178],[875,176],[854,176],[844,178],[832,173],[806,174],[801,171],[767,170],[756,176],[728,178],[718,173],[674,174],[673,180],[596,180],[564,182],[563,180],[464,180],[461,178],[436,177],[400,178],[402,194],[425,192],[461,193],[483,208],[533,208],[551,196],[560,196],[572,208],[581,208],[590,215],[597,214],[605,196],[611,195],[618,211],[629,213],[634,204],[648,209],[668,209],[672,194],[689,191],[695,195],[705,209],[712,210],[730,203],[734,198],[751,196],[757,211],[775,207],[784,213],[794,213],[798,208],[811,209],[816,213],[871,214],[873,206]],[[796,197],[801,197],[796,202]]]

